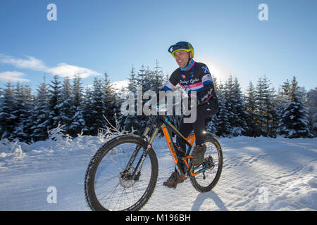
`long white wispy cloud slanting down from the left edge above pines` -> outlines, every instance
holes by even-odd
[[[99,72],[88,68],[82,68],[77,65],[69,65],[67,63],[59,63],[56,67],[48,67],[42,60],[32,56],[25,56],[26,58],[14,58],[0,54],[0,63],[10,64],[16,68],[30,69],[42,72],[48,72],[52,75],[59,75],[61,77],[73,78],[75,75],[80,75],[82,78],[89,76],[101,75]]]

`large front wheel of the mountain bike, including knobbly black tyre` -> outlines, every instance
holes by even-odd
[[[128,166],[132,153],[139,152]],[[99,148],[85,176],[85,196],[92,210],[139,210],[156,186],[158,161],[151,148],[137,176],[132,174],[147,143],[140,136],[118,136]]]

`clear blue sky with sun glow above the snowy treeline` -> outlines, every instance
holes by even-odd
[[[218,80],[231,74],[246,89],[266,75],[278,88],[296,76],[308,91],[317,86],[316,12],[314,0],[1,0],[0,87],[20,80],[35,91],[56,73],[79,73],[85,86],[107,72],[114,82],[156,60],[170,75],[178,65],[168,47],[189,41]]]

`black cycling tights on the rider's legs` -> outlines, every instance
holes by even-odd
[[[178,131],[180,131],[180,134],[187,137],[192,132],[192,130],[194,130],[194,134],[196,136],[196,145],[201,146],[204,143],[204,118],[215,115],[217,110],[218,108],[215,109],[211,107],[210,103],[199,105],[197,107],[196,121],[193,123],[184,123],[184,117],[182,117]],[[190,115],[187,117],[190,117]],[[177,136],[176,143],[178,143],[178,146],[180,146],[183,150],[186,150],[186,144],[181,140],[182,139]]]

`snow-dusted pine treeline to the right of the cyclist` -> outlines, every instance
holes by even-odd
[[[256,86],[249,82],[245,94],[237,78],[232,76],[224,84],[216,84],[216,89],[220,110],[206,121],[206,129],[219,136],[316,136],[316,117],[314,120],[309,117],[309,109],[316,110],[316,95],[306,94],[304,88],[298,86],[296,77],[291,82],[287,79],[278,91],[265,76],[258,79]],[[310,92],[316,93],[316,89]],[[311,103],[306,107],[309,101],[315,106]]]

